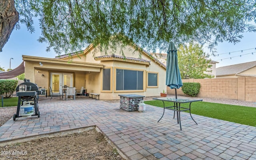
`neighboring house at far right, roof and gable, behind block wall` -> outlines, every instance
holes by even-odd
[[[216,68],[216,78],[256,77],[256,61]]]

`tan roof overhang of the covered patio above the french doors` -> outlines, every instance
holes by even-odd
[[[34,57],[22,55],[22,59],[27,63],[38,63],[34,66],[36,69],[44,70],[66,70],[66,71],[90,71],[90,72],[100,72],[100,69],[103,68],[103,64],[98,63],[89,63],[89,62],[79,62],[79,61],[68,61],[60,59],[51,59],[44,57]],[[43,66],[40,66],[39,63],[42,63]]]

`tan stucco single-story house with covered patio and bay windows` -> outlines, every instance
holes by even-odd
[[[166,90],[166,66],[146,51],[142,51],[140,59],[134,46],[124,49],[125,58],[119,55],[120,49],[115,54],[112,50],[107,53],[89,45],[71,56],[22,55],[25,78],[53,90],[61,90],[64,85],[78,90],[83,86],[87,93],[100,94],[100,100],[117,100],[118,94],[159,96],[163,89]]]

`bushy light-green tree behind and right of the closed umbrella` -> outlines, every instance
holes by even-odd
[[[178,64],[182,79],[202,79],[213,78],[207,74],[210,60],[207,60],[208,55],[204,53],[202,45],[198,43],[189,43],[188,45],[180,45],[178,48]]]

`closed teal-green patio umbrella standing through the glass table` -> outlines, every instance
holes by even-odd
[[[173,42],[169,44],[166,62],[166,86],[169,86],[171,89],[175,88],[175,97],[177,99],[176,89],[183,86],[183,84],[178,66],[177,49]]]

